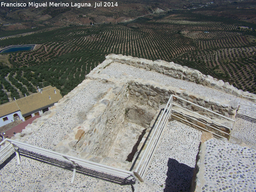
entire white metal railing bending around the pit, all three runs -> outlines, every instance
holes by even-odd
[[[202,108],[202,109],[204,109],[206,111],[209,111],[209,112],[211,112],[211,113],[213,113],[215,115],[221,116],[221,117],[223,117],[223,118],[225,118],[227,120],[230,120],[230,121],[234,122],[233,119],[230,119],[228,117],[222,116],[222,115],[220,115],[220,114],[218,114],[216,112],[213,112],[213,111],[211,111],[211,110],[209,110],[207,108],[201,107],[201,106],[199,106],[199,105],[197,105],[195,103],[192,103],[192,102],[190,102],[188,100],[184,100],[184,99],[182,99],[182,98],[180,98],[178,96],[171,95],[169,100],[168,100],[168,102],[167,102],[167,104],[166,104],[166,106],[165,106],[165,108],[164,108],[164,110],[163,110],[163,112],[162,112],[162,115],[159,118],[158,123],[157,123],[157,125],[156,125],[156,127],[155,127],[155,129],[154,129],[154,131],[153,131],[153,133],[151,135],[151,137],[150,137],[150,140],[148,141],[147,147],[145,148],[145,150],[144,150],[144,152],[143,152],[143,154],[142,154],[142,156],[140,158],[140,161],[139,161],[139,163],[138,163],[138,165],[137,165],[137,167],[135,168],[134,171],[127,171],[127,170],[111,167],[111,166],[108,166],[108,165],[95,163],[95,162],[92,162],[92,161],[88,161],[88,160],[84,160],[84,159],[81,159],[81,158],[65,155],[65,154],[58,153],[58,152],[55,152],[55,151],[51,151],[51,150],[44,149],[44,148],[39,148],[39,147],[36,147],[36,146],[32,146],[32,145],[29,145],[29,144],[26,144],[26,143],[22,143],[22,142],[19,142],[19,141],[15,141],[15,140],[11,140],[11,139],[5,139],[5,140],[3,140],[0,143],[0,145],[1,145],[1,144],[3,144],[6,141],[10,142],[9,145],[7,145],[3,149],[1,149],[1,151],[0,151],[0,160],[3,159],[4,157],[6,157],[11,152],[13,152],[13,150],[10,151],[10,149],[14,148],[14,151],[16,152],[16,157],[17,157],[17,164],[20,164],[20,155],[19,155],[19,152],[18,152],[18,148],[23,148],[23,149],[26,149],[26,150],[31,151],[31,152],[39,153],[39,154],[44,155],[44,156],[48,156],[48,157],[51,157],[51,158],[58,159],[60,161],[65,161],[65,162],[69,162],[69,163],[73,164],[74,169],[73,169],[73,176],[72,176],[72,179],[71,179],[71,183],[73,183],[73,181],[75,179],[76,166],[80,166],[80,167],[87,167],[89,169],[93,169],[93,170],[96,170],[96,171],[99,171],[99,172],[106,172],[108,174],[113,174],[113,175],[116,175],[116,176],[119,176],[119,177],[124,177],[124,178],[128,178],[128,177],[132,176],[135,179],[134,191],[137,192],[137,190],[138,190],[138,183],[139,183],[139,181],[143,182],[142,178],[145,175],[146,170],[148,169],[149,163],[150,163],[150,161],[151,161],[151,159],[152,159],[152,157],[153,157],[153,155],[154,155],[154,153],[156,151],[158,143],[159,143],[159,141],[161,139],[161,136],[163,134],[164,127],[167,124],[169,117],[172,115],[172,116],[175,116],[177,118],[180,118],[180,117],[172,114],[172,111],[174,111],[176,113],[179,113],[179,114],[181,114],[183,116],[189,117],[189,118],[191,118],[191,119],[193,119],[193,120],[195,120],[197,122],[200,122],[201,124],[207,125],[207,126],[211,127],[212,129],[218,130],[219,132],[222,132],[224,134],[228,134],[228,133],[223,132],[223,131],[221,131],[221,130],[219,130],[219,129],[211,126],[211,125],[208,125],[208,124],[202,122],[202,121],[198,121],[196,118],[193,118],[191,116],[183,114],[183,113],[181,113],[181,112],[179,112],[177,110],[173,110],[172,109],[172,105],[173,106],[177,106],[179,108],[182,108],[184,110],[187,110],[187,111],[189,111],[189,112],[191,112],[193,114],[196,114],[196,115],[198,115],[200,117],[203,117],[203,118],[205,118],[207,120],[210,120],[210,121],[212,121],[212,122],[214,122],[216,124],[219,124],[219,125],[221,125],[221,126],[223,126],[225,128],[228,128],[229,130],[232,129],[232,128],[230,128],[228,126],[225,126],[223,124],[220,124],[220,123],[218,123],[218,122],[216,122],[216,121],[214,121],[214,120],[212,120],[212,119],[210,119],[210,118],[208,118],[206,116],[202,116],[202,115],[200,115],[200,114],[198,114],[196,112],[190,111],[190,110],[188,110],[186,108],[183,108],[183,107],[181,107],[179,105],[176,105],[175,103],[172,102],[173,101],[173,97],[175,97],[177,99],[180,99],[180,100],[183,100],[183,101],[186,101],[186,102],[188,102],[188,103],[190,103],[192,105],[195,105],[195,106],[197,106],[199,108]],[[182,118],[180,118],[180,119],[182,119]],[[189,121],[187,121],[185,119],[182,119],[182,121],[188,122],[189,124],[193,124],[193,123],[191,123],[191,122],[189,122]],[[193,125],[201,128],[201,129],[203,129],[203,130],[205,130],[207,132],[211,132],[211,131],[209,131],[207,129],[204,129],[203,127],[200,127],[199,125],[196,125],[196,124],[193,124]],[[221,135],[218,135],[218,134],[216,134],[214,132],[211,132],[211,133],[216,135],[216,136],[218,136],[218,137],[222,137]],[[224,137],[222,137],[222,138],[224,138]],[[4,150],[6,150],[6,152],[3,152]]]

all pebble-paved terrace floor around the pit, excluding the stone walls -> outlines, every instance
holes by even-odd
[[[54,148],[77,124],[84,121],[85,117],[81,114],[93,111],[99,100],[114,87],[111,78],[118,81],[125,75],[129,78],[171,85],[215,100],[256,106],[255,103],[234,94],[131,65],[110,62],[104,67],[107,61],[94,69],[84,83],[51,109],[54,112],[51,117],[48,117],[49,112],[48,116],[46,114],[38,118],[34,125],[28,126],[24,132],[31,134],[22,138],[17,134],[14,139],[46,149]],[[246,111],[242,109],[255,110],[250,106],[241,106],[238,111],[244,115]],[[193,174],[197,173],[195,191],[255,192],[255,130],[255,121],[236,116],[229,141],[212,138],[200,144],[201,131],[171,119],[146,171],[145,182],[139,184],[138,191],[188,192],[191,189]],[[0,165],[0,191],[134,191],[135,182],[126,182],[118,177],[109,178],[104,173],[79,167],[74,183],[71,184],[71,164],[25,150],[20,150],[20,154],[20,166],[16,163],[15,153]]]

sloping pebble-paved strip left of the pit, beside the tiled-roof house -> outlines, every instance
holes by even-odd
[[[81,112],[85,114],[111,86],[110,83],[96,80],[89,82],[83,90],[69,100],[64,107],[24,142],[45,149],[53,148],[81,120],[79,114]]]

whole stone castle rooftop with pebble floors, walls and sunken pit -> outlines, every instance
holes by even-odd
[[[172,62],[110,54],[73,91],[12,139],[134,170],[171,94],[234,120],[174,99],[231,127],[230,137],[213,138],[184,124],[184,116],[181,122],[170,118],[138,191],[255,191],[256,116],[250,111],[254,112],[256,104],[242,97],[255,95]],[[79,167],[70,183],[71,164],[22,149],[20,155],[20,166],[15,155],[0,165],[2,191],[134,190],[133,181]]]

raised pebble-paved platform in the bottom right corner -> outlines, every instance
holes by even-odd
[[[256,150],[228,141],[206,141],[202,192],[255,192]],[[201,170],[202,171],[202,170]]]

